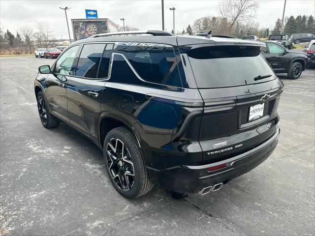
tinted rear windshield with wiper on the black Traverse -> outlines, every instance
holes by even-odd
[[[245,86],[274,80],[275,74],[259,47],[211,46],[187,52],[198,88]],[[254,80],[258,75],[271,75]]]

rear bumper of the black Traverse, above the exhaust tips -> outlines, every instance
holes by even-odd
[[[200,166],[176,166],[163,171],[148,168],[149,176],[161,187],[198,193],[203,188],[241,176],[266,160],[278,144],[280,129],[264,143],[240,155],[219,162]],[[226,164],[219,170],[209,171],[208,168]]]

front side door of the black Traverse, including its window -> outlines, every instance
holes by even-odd
[[[80,45],[69,48],[56,61],[52,73],[46,78],[46,99],[50,112],[57,118],[69,122],[66,86],[73,72],[73,63]]]

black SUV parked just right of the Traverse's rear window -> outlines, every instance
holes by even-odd
[[[308,57],[305,53],[288,51],[273,41],[265,41],[260,51],[275,73],[287,73],[292,80],[298,79],[306,69]]]

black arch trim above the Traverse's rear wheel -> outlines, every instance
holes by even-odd
[[[135,136],[139,148],[143,147],[143,142],[140,138],[140,134],[136,127],[131,123],[129,120],[121,116],[120,114],[113,112],[113,111],[105,111],[102,112],[99,117],[98,122],[98,143],[101,148],[103,148],[104,145],[104,139],[106,134],[117,127],[126,126],[128,130]]]

